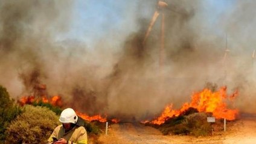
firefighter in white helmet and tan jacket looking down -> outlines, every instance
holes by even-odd
[[[77,125],[77,114],[71,108],[67,108],[60,114],[59,121],[62,125],[55,128],[49,137],[48,144],[87,144],[85,127]]]

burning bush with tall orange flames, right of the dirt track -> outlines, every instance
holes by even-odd
[[[147,125],[159,128],[163,134],[207,136],[210,134],[211,128],[206,121],[206,113],[214,116],[218,121],[223,118],[234,121],[238,115],[238,110],[228,108],[227,102],[232,103],[238,95],[238,91],[228,95],[226,94],[226,86],[222,86],[218,91],[214,84],[207,83],[206,87],[208,88],[200,92],[194,92],[190,103],[184,103],[179,110],[172,109],[172,104],[165,107],[158,118],[146,121]]]

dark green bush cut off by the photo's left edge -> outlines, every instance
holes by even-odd
[[[21,114],[21,108],[14,104],[14,100],[10,100],[7,90],[0,86],[0,143],[5,139],[5,130],[16,116]]]

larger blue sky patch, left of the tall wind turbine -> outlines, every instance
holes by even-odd
[[[133,27],[133,22],[129,22],[130,17],[126,16],[126,13],[129,13],[127,7],[135,5],[133,2],[135,1],[75,1],[74,21],[71,23],[70,31],[62,35],[62,39],[86,41],[86,44],[93,47],[95,41],[104,38],[105,35],[111,35],[113,31],[123,31],[124,21]],[[127,32],[132,31],[129,28],[125,29]]]

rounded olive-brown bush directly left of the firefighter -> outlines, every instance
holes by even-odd
[[[7,128],[6,143],[46,143],[59,116],[46,107],[24,106],[24,113],[14,119]]]

